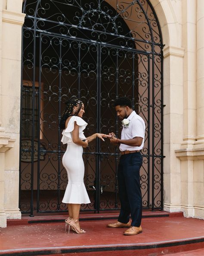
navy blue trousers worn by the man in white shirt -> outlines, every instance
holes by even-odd
[[[140,152],[122,155],[118,165],[118,188],[121,211],[118,221],[127,223],[132,218],[132,226],[139,227],[142,219],[142,194],[139,170],[142,166]]]

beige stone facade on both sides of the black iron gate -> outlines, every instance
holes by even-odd
[[[204,1],[150,2],[165,44],[164,210],[204,218]],[[21,10],[22,0],[0,0],[0,227],[21,218]]]

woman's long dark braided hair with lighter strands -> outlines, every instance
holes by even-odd
[[[80,99],[78,99],[76,96],[72,96],[66,102],[66,107],[65,107],[65,110],[64,110],[61,120],[60,120],[60,125],[59,125],[60,129],[65,129],[65,122],[69,116],[78,115],[82,104],[83,104],[83,102],[80,101]],[[72,114],[74,106],[79,106],[79,107],[78,107],[77,111],[74,114]]]

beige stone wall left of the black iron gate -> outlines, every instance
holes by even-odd
[[[19,126],[22,1],[0,1],[0,227],[21,218],[19,194]],[[15,38],[15,40],[13,40]]]

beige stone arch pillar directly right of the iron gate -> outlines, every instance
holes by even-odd
[[[180,166],[174,150],[182,141],[183,56],[181,1],[152,1],[164,46],[164,209],[180,211]]]

